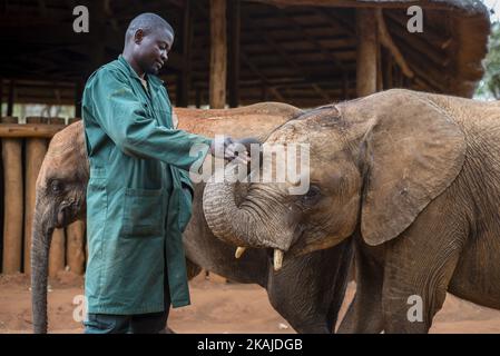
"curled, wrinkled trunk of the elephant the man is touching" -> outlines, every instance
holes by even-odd
[[[277,202],[281,199],[273,198],[275,190],[254,184],[238,206],[234,168],[228,167],[220,181],[215,177],[206,184],[203,197],[204,214],[212,233],[236,246],[274,248],[275,264],[281,265],[283,251],[293,241],[295,224],[290,220],[291,211]]]

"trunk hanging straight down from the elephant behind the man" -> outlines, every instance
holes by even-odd
[[[31,306],[33,332],[47,333],[47,275],[53,228],[48,227],[37,198],[31,235]]]

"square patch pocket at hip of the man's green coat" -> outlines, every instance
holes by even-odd
[[[125,190],[124,234],[128,237],[158,237],[164,233],[161,189]]]

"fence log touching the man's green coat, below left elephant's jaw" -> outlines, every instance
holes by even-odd
[[[69,119],[69,123],[78,121],[78,118]],[[66,260],[69,270],[77,275],[85,271],[85,221],[77,220],[66,228]]]

